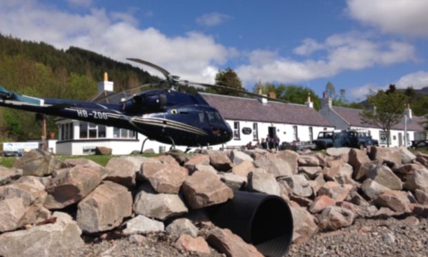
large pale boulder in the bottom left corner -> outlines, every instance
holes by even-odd
[[[0,235],[0,256],[60,256],[81,247],[81,230],[71,216],[55,212],[55,222]]]

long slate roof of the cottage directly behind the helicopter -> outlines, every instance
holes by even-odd
[[[318,111],[303,104],[286,104],[258,99],[200,93],[227,120],[248,120],[308,126],[331,126]]]

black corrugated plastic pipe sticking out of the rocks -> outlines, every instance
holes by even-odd
[[[234,191],[233,199],[209,209],[211,221],[253,244],[264,256],[284,256],[293,239],[293,216],[279,196]]]

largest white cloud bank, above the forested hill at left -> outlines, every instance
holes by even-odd
[[[209,71],[217,70],[215,66],[224,64],[236,53],[198,32],[168,37],[155,28],[139,29],[130,13],[108,13],[93,8],[79,15],[35,1],[15,2],[13,5],[0,2],[3,35],[44,41],[63,49],[79,46],[118,61],[138,57],[164,66],[183,79],[212,83],[215,75]]]

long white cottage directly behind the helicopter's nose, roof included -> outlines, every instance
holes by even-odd
[[[227,95],[201,93],[211,106],[217,108],[233,129],[233,140],[225,146],[244,146],[277,134],[281,142],[312,142],[318,133],[332,130],[333,125],[308,98],[306,104],[288,104]]]

